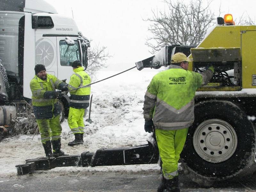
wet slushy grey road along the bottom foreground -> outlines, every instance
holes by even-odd
[[[255,192],[255,174],[247,181],[232,181],[202,188],[180,173],[181,192]],[[37,171],[32,175],[0,179],[0,192],[156,192],[159,171],[78,172]]]

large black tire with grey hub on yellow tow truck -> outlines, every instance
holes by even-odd
[[[204,186],[252,174],[256,170],[255,138],[254,125],[234,103],[198,103],[181,154],[184,173]]]

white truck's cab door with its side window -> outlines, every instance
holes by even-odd
[[[69,37],[74,40],[74,45],[68,45],[65,42],[64,36],[57,37],[57,53],[58,53],[58,79],[67,79],[74,73],[73,68],[70,66],[75,60],[81,61],[81,43],[77,37]]]

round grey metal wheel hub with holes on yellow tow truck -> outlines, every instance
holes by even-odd
[[[220,163],[229,159],[236,151],[236,132],[227,122],[210,119],[196,128],[193,145],[196,153],[205,161]]]

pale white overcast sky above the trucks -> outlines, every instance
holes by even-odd
[[[159,0],[46,0],[60,14],[73,16],[84,36],[93,39],[91,45],[106,46],[113,57],[108,60],[111,69],[126,69],[152,55],[145,45],[151,9],[164,9]],[[189,2],[189,0],[184,0]],[[206,0],[205,0],[206,2]],[[212,11],[220,16],[232,13],[239,18],[243,13],[255,20],[256,0],[213,0]],[[71,10],[72,8],[72,10]],[[127,67],[126,67],[127,66]]]

